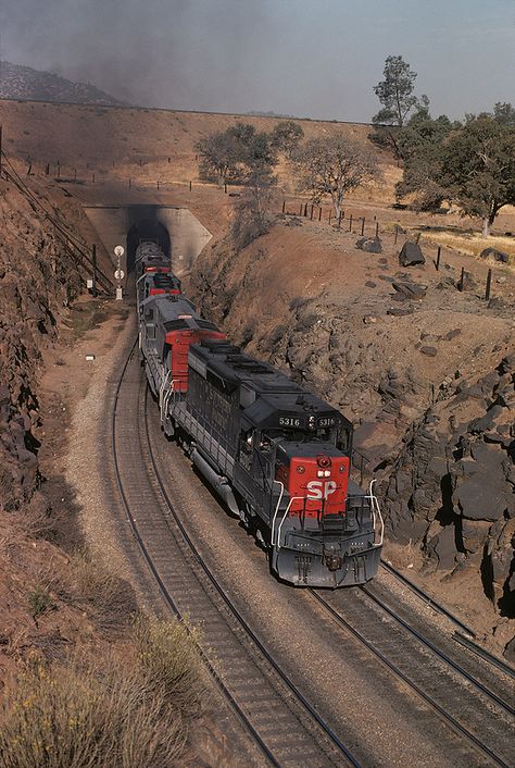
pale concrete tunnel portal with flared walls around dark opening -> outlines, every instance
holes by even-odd
[[[114,247],[123,245],[125,253],[121,259],[122,269],[127,275],[134,259],[134,243],[128,241],[137,230],[143,233],[161,233],[164,247],[169,248],[172,269],[178,277],[185,277],[191,272],[194,260],[206,243],[212,238],[209,230],[201,224],[188,208],[177,206],[160,206],[133,203],[121,206],[85,206],[84,212],[99,235],[112,260],[113,272],[116,265]],[[134,228],[136,227],[136,228]],[[164,235],[164,232],[166,235]],[[149,239],[155,239],[149,237]]]

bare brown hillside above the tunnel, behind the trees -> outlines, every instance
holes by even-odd
[[[21,161],[32,161],[33,170],[50,163],[61,176],[74,169],[79,177],[161,179],[188,183],[198,179],[194,145],[205,135],[246,122],[258,131],[269,132],[279,117],[171,110],[106,108],[76,104],[0,101],[4,151]],[[305,138],[343,134],[367,143],[370,132],[364,124],[312,120],[297,121]],[[380,156],[386,189],[392,198],[392,184],[399,170],[387,154]],[[169,158],[169,162],[168,162]],[[288,171],[279,169],[280,182],[291,186]],[[377,195],[376,195],[377,196]]]

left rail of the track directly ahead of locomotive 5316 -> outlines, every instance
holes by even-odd
[[[453,715],[448,713],[438,702],[436,702],[432,696],[427,694],[417,683],[411,680],[402,670],[400,670],[392,661],[390,661],[370,641],[368,641],[355,627],[352,627],[340,612],[338,612],[332,606],[330,606],[317,592],[311,587],[307,592],[312,597],[324,607],[325,610],[329,612],[331,618],[337,624],[344,627],[354,637],[356,637],[360,643],[362,643],[374,656],[376,656],[381,664],[384,664],[390,671],[395,674],[400,680],[402,680],[409,688],[415,691],[432,709],[435,709],[442,719],[460,735],[464,736],[468,742],[470,742],[478,751],[487,755],[491,760],[493,760],[501,768],[511,768],[511,766],[502,758],[500,758],[495,753],[490,750],[486,744],[483,744],[480,739],[470,733],[464,726],[462,726]]]

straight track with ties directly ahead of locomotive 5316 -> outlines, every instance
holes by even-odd
[[[375,594],[374,586],[329,597],[314,590],[310,594],[332,621],[438,713],[478,758],[502,768],[513,765],[512,704],[411,627]]]

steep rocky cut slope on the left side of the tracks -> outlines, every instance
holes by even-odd
[[[41,350],[56,338],[60,314],[78,294],[80,276],[45,218],[1,184],[0,505],[14,510],[39,484],[34,430]]]

